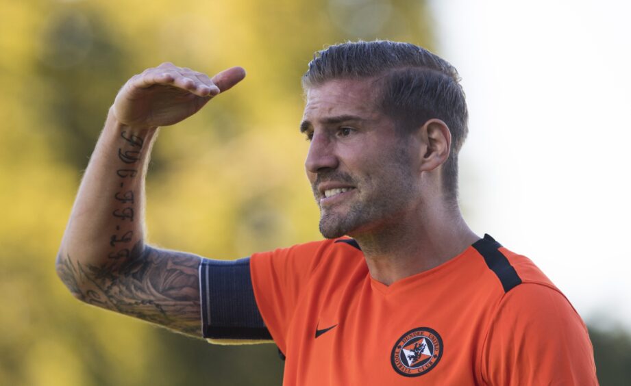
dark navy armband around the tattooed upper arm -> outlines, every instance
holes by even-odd
[[[252,289],[250,259],[203,259],[199,266],[201,329],[207,339],[271,340]]]

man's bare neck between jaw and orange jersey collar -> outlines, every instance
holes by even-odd
[[[353,235],[371,276],[385,285],[439,266],[480,239],[457,207],[430,205],[413,212],[402,214],[396,223]]]

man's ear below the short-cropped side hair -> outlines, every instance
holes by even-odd
[[[451,132],[447,124],[438,118],[425,122],[419,131],[421,136],[421,170],[430,171],[438,168],[449,158]]]

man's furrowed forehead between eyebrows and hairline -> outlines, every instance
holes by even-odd
[[[307,90],[303,120],[314,122],[331,116],[380,118],[376,90],[371,79],[336,79]]]

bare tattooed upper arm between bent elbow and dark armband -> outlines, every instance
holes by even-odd
[[[100,266],[60,255],[57,270],[86,303],[201,337],[200,262],[190,253],[138,242],[129,256]]]

